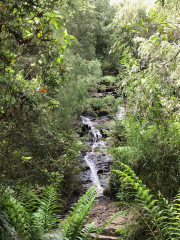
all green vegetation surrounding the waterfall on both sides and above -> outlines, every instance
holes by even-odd
[[[0,1],[0,238],[42,239],[57,227],[61,200],[81,193],[78,116],[123,99],[126,118],[107,131],[109,191],[136,217],[119,239],[180,238],[179,7]],[[101,84],[121,97],[91,99]],[[59,239],[88,239],[95,196],[82,197],[87,208],[76,205]]]

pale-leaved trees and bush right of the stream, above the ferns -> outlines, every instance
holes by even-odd
[[[179,26],[174,1],[155,5],[144,18],[124,26],[119,41],[119,91],[132,113],[125,121],[125,147],[115,158],[128,162],[144,183],[172,199],[179,189]],[[170,14],[171,13],[171,14]],[[148,20],[147,20],[148,19]],[[154,29],[154,31],[153,31]],[[149,35],[150,34],[150,35]]]

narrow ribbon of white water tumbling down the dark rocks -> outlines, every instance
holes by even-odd
[[[102,138],[102,135],[101,135],[101,133],[98,129],[93,127],[93,123],[91,122],[91,120],[89,118],[83,117],[83,116],[81,116],[81,119],[82,119],[82,123],[84,125],[88,125],[89,132],[91,132],[92,135],[93,135],[92,151],[86,153],[86,155],[84,157],[84,160],[86,161],[87,165],[91,169],[91,180],[92,180],[92,182],[97,186],[98,192],[102,193],[103,188],[101,186],[101,183],[99,181],[99,177],[97,175],[96,164],[94,163],[94,161],[92,161],[91,157],[92,157],[92,155],[94,155],[94,149],[96,147],[105,146],[105,143],[103,141],[99,141],[99,139]]]

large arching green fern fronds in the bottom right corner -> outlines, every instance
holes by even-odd
[[[173,205],[161,195],[159,200],[156,200],[129,166],[119,164],[122,170],[114,171],[119,175],[122,187],[130,190],[129,194],[134,196],[140,206],[140,210],[137,208],[133,210],[149,229],[149,236],[161,240],[180,239],[180,193],[176,196]]]

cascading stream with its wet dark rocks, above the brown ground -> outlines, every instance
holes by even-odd
[[[126,115],[124,107],[119,106],[118,112],[114,118],[123,120]],[[82,165],[85,171],[82,171],[81,179],[83,187],[88,189],[92,185],[97,186],[99,196],[103,195],[103,189],[108,186],[110,168],[112,159],[107,153],[108,143],[102,140],[102,133],[97,129],[98,124],[114,121],[107,116],[93,118],[91,116],[80,116],[82,124],[88,130],[88,140],[86,144],[91,150],[83,156]]]

